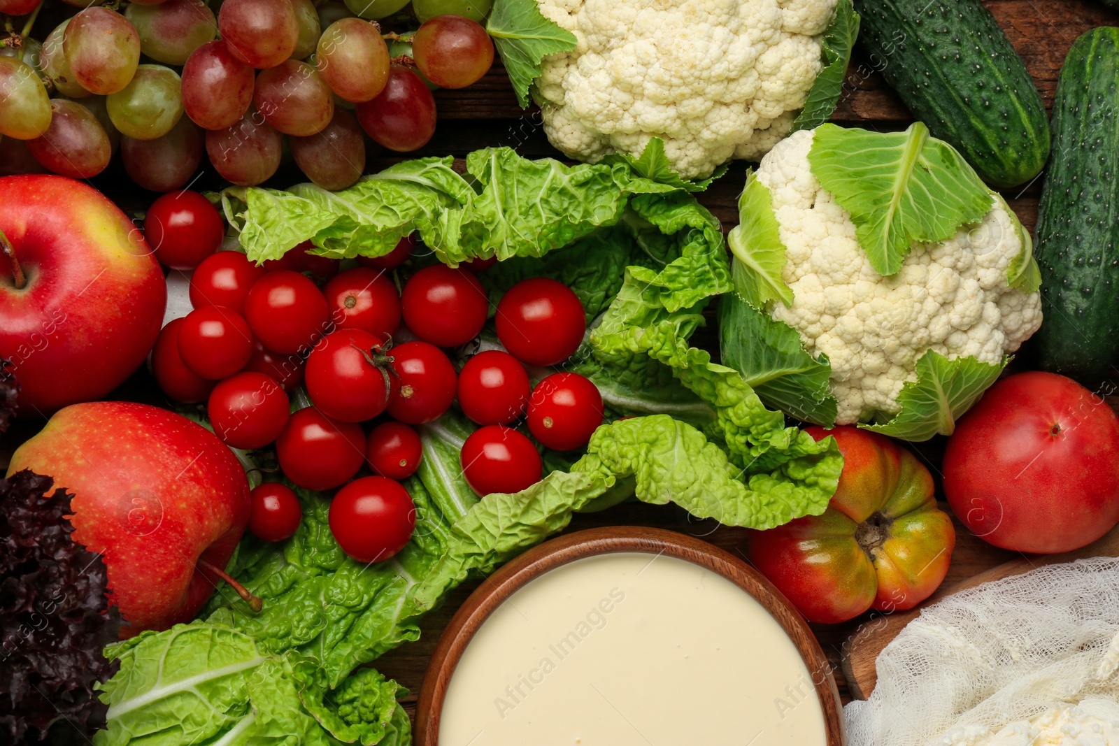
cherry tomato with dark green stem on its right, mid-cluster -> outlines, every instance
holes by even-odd
[[[340,329],[323,337],[308,356],[307,393],[328,417],[372,419],[396,393],[392,360],[380,338],[360,329]]]

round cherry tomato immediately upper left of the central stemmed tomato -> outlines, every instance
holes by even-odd
[[[327,299],[314,283],[291,270],[257,280],[245,301],[248,325],[276,352],[305,350],[328,328]]]

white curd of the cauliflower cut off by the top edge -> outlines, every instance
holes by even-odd
[[[571,158],[640,155],[653,136],[685,178],[756,160],[792,129],[822,66],[836,0],[539,0],[575,35],[536,81]]]

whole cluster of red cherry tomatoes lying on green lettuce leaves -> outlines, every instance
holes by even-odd
[[[164,265],[194,270],[194,310],[168,323],[152,351],[160,387],[177,402],[205,402],[214,432],[233,447],[274,443],[294,484],[341,488],[330,528],[360,561],[386,559],[411,538],[415,510],[399,481],[423,456],[414,426],[438,419],[455,400],[480,426],[460,454],[479,495],[517,492],[542,478],[537,446],[517,423],[557,451],[585,446],[602,423],[592,381],[539,370],[565,362],[586,330],[579,296],[554,280],[510,287],[495,315],[505,350],[478,352],[457,371],[444,349],[482,331],[490,303],[476,273],[492,261],[424,266],[399,292],[393,271],[412,256],[411,236],[391,254],[340,272],[337,259],[302,246],[257,266],[239,252],[217,251],[220,216],[190,191],[157,200],[144,229]],[[526,366],[543,376],[535,387]],[[292,398],[309,406],[292,412]],[[372,425],[368,434],[361,423]],[[355,479],[366,464],[374,475]],[[299,500],[285,485],[253,491],[250,530],[260,538],[285,539],[300,520]]]

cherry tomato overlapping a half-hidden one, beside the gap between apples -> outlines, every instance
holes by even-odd
[[[253,332],[244,317],[224,305],[204,305],[182,319],[179,357],[203,378],[226,378],[253,356]]]

